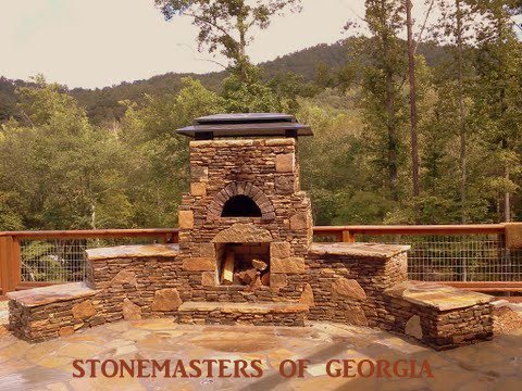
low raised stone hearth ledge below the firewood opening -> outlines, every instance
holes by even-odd
[[[179,308],[182,324],[304,326],[309,306],[301,303],[185,302]]]

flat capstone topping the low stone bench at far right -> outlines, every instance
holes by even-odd
[[[465,308],[477,304],[487,304],[495,300],[494,297],[464,291],[434,282],[406,281],[386,290],[387,295],[403,299],[421,306],[436,308],[437,311],[451,311]]]

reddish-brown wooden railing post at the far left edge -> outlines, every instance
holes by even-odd
[[[14,291],[22,280],[20,241],[12,236],[0,237],[0,287],[2,294]]]

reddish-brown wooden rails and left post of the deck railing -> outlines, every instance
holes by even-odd
[[[319,226],[314,237],[324,240],[355,242],[358,237],[423,237],[423,236],[494,236],[504,243],[505,225],[426,225],[426,226]],[[160,242],[177,242],[178,230],[160,229],[101,229],[63,231],[5,231],[0,232],[0,295],[21,288],[21,242],[27,240],[120,239],[150,238]],[[522,281],[446,282],[474,290],[521,291]]]

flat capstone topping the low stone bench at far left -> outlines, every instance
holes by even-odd
[[[85,282],[72,282],[9,292],[7,295],[8,299],[15,300],[23,306],[35,307],[66,300],[89,298],[98,292],[98,290],[88,288]]]

